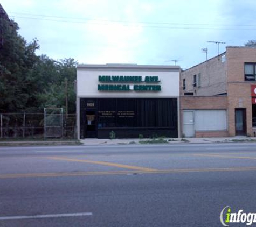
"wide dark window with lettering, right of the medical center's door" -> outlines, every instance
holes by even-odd
[[[175,127],[177,100],[156,98],[99,98],[98,128]]]

